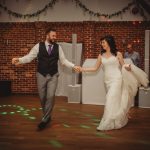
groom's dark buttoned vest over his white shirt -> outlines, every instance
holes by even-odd
[[[51,54],[49,55],[45,42],[39,43],[39,53],[38,53],[38,67],[37,71],[42,74],[43,76],[46,76],[47,74],[50,74],[53,76],[58,72],[58,59],[59,59],[59,45],[54,43],[53,50]]]

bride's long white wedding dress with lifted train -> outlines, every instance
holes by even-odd
[[[128,122],[127,113],[138,86],[147,86],[149,81],[146,73],[135,65],[127,71],[125,65],[121,68],[117,57],[101,58],[107,94],[104,114],[97,130],[119,129]]]

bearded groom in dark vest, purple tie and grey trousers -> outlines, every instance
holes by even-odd
[[[58,60],[61,64],[70,69],[79,72],[80,67],[69,62],[63,53],[60,45],[56,42],[56,30],[48,29],[46,31],[45,42],[36,44],[29,54],[21,58],[13,58],[12,64],[19,65],[31,62],[34,58],[38,58],[37,65],[37,86],[38,93],[43,109],[43,117],[38,124],[38,129],[44,129],[51,121],[51,114],[54,107],[55,91],[58,82]]]

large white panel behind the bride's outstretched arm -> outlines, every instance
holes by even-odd
[[[92,67],[97,59],[86,59],[83,67]],[[97,72],[82,73],[82,103],[83,104],[105,104],[105,86],[103,70]]]

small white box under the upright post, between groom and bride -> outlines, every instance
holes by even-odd
[[[68,85],[68,103],[81,103],[81,84]]]

